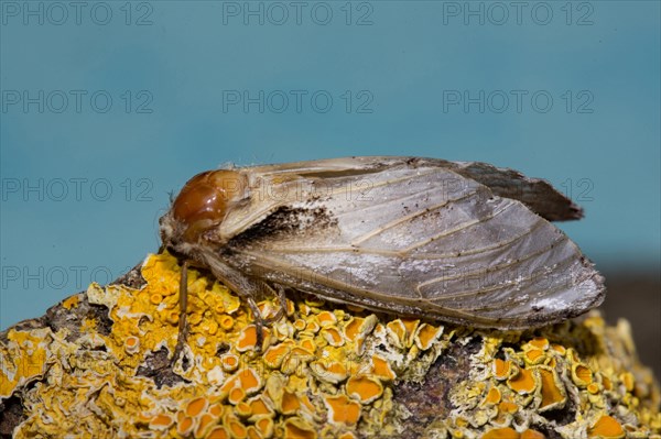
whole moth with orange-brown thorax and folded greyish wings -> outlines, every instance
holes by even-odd
[[[582,216],[548,182],[486,163],[366,156],[204,172],[160,219],[164,248],[184,260],[177,348],[188,264],[243,297],[260,336],[256,295],[282,304],[286,288],[472,327],[559,322],[604,299],[603,277],[550,222]]]

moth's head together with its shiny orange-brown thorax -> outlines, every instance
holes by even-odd
[[[187,245],[219,242],[218,226],[245,198],[248,184],[232,169],[207,171],[191,178],[160,220],[163,244],[184,251]]]

